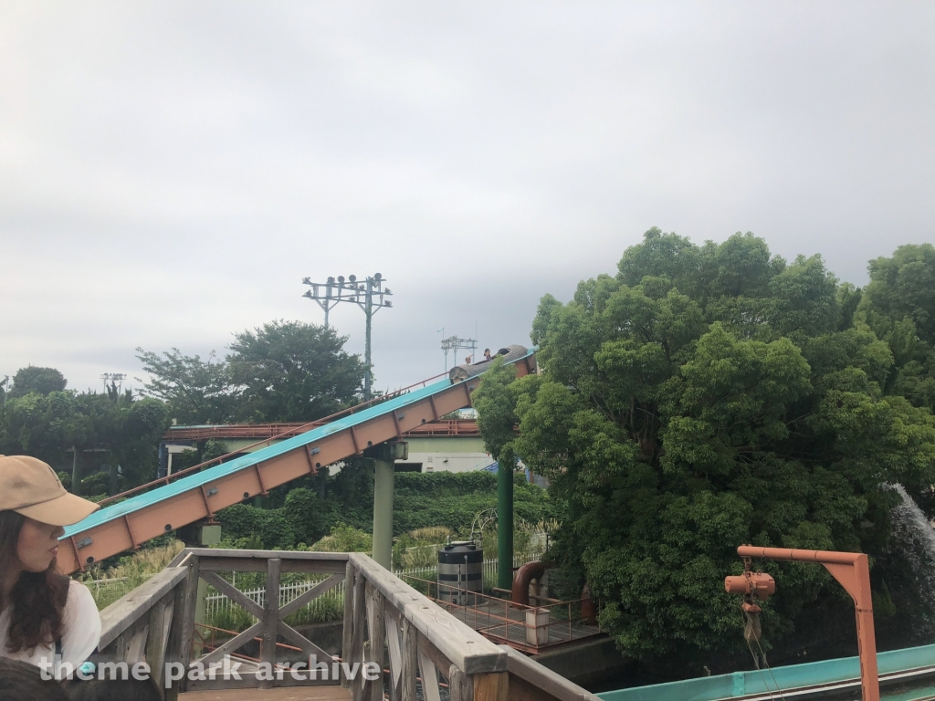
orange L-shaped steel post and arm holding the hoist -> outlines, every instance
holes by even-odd
[[[880,701],[880,678],[873,629],[870,565],[863,552],[799,551],[788,548],[755,548],[741,545],[741,557],[825,565],[834,579],[851,594],[857,622],[857,654],[860,656],[860,688],[864,701]]]

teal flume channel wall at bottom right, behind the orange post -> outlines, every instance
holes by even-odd
[[[878,652],[877,665],[881,675],[935,665],[935,645]],[[597,695],[604,701],[720,701],[748,694],[775,694],[778,690],[788,692],[815,684],[859,679],[858,658],[842,657],[805,665],[773,667],[771,673],[770,670],[734,672]]]

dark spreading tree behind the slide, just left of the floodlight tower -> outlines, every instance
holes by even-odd
[[[361,393],[364,365],[343,350],[346,341],[334,329],[302,322],[237,334],[228,364],[243,387],[241,418],[307,422],[347,407]]]

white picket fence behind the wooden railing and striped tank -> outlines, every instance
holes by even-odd
[[[517,555],[513,558],[513,567],[519,567],[520,565],[525,565],[529,562],[535,562],[539,560],[541,552],[537,553],[527,553],[525,555]],[[483,561],[483,579],[485,582],[496,581],[497,575],[497,561],[496,559],[484,560]],[[434,581],[437,575],[436,566],[428,567],[410,567],[407,569],[397,569],[394,570],[396,577],[402,579],[405,576],[415,577],[418,579],[429,579]],[[309,575],[307,579],[302,579],[301,581],[295,581],[288,584],[281,584],[280,586],[280,607],[285,606],[290,601],[295,599],[296,596],[305,594],[309,591],[315,584],[320,581],[323,581],[327,578],[327,575]],[[236,582],[235,582],[236,584]],[[213,590],[211,590],[213,591]],[[264,587],[258,587],[245,591],[243,594],[251,598],[260,606],[266,606],[266,589]],[[239,608],[237,604],[231,601],[225,594],[209,594],[206,597],[206,607],[205,614],[206,620],[212,621],[217,620],[220,615],[223,613],[230,613],[233,609]],[[318,614],[315,618],[317,620],[324,620],[326,616],[326,611],[343,611],[344,608],[344,582],[341,581],[333,589],[325,592],[318,598],[314,599],[309,603],[308,606],[304,609],[308,609],[309,613]],[[301,609],[300,609],[301,610]]]

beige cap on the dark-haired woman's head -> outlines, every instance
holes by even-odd
[[[69,494],[50,465],[28,455],[0,455],[0,511],[34,521],[71,525],[96,511],[87,499]]]

